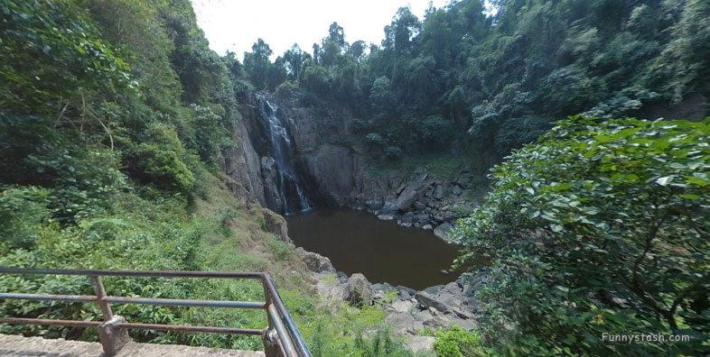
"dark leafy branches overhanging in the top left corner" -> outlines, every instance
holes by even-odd
[[[82,90],[135,90],[126,61],[72,2],[10,0],[0,11],[0,107],[5,110],[43,114],[51,110],[47,102],[78,101]]]

